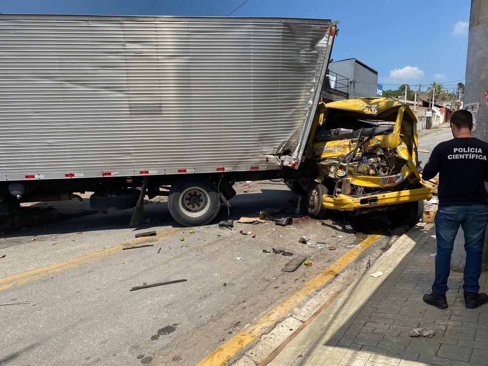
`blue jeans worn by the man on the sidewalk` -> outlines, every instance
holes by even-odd
[[[477,293],[480,291],[479,280],[488,224],[488,205],[439,207],[434,222],[437,254],[432,291],[440,295],[449,290],[447,279],[451,271],[451,253],[461,225],[466,250],[463,289]]]

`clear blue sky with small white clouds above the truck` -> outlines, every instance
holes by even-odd
[[[1,13],[323,18],[339,21],[334,61],[356,58],[384,90],[465,83],[468,0],[0,0]],[[242,6],[241,6],[242,5]]]

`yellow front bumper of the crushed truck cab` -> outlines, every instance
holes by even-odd
[[[324,195],[322,205],[324,208],[339,211],[369,210],[374,207],[429,200],[431,197],[432,189],[424,187],[363,197],[351,197],[345,194],[338,194],[337,197]]]

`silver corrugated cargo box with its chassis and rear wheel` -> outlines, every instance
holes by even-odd
[[[88,191],[136,223],[167,194],[208,224],[235,182],[299,166],[336,24],[0,14],[0,213]]]

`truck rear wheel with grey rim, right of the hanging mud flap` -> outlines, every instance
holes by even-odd
[[[175,183],[168,196],[171,216],[183,226],[200,226],[211,222],[220,210],[217,187],[208,179],[185,178]]]

